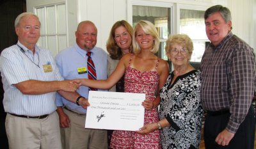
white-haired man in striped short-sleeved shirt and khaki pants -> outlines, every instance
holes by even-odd
[[[78,84],[63,81],[51,52],[36,46],[40,21],[34,13],[18,15],[15,31],[17,44],[0,57],[9,148],[61,149],[56,91],[83,108],[88,100],[77,100]]]

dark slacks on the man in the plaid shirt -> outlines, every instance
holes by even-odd
[[[215,142],[218,134],[227,126],[230,113],[217,116],[207,115],[204,124],[204,141],[206,149],[253,149],[255,137],[255,111],[250,107],[244,122],[241,123],[228,146],[221,146]]]

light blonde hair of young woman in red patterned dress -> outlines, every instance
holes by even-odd
[[[134,33],[132,35],[132,45],[133,45],[133,52],[135,54],[138,54],[141,49],[139,44],[136,42],[136,35],[137,35],[137,29],[138,27],[141,27],[143,29],[143,31],[148,34],[148,35],[152,35],[154,37],[154,43],[153,43],[153,48],[151,50],[151,52],[156,53],[159,50],[159,35],[157,33],[156,27],[154,26],[154,24],[152,24],[151,22],[147,21],[147,20],[140,20],[136,26],[134,27]]]

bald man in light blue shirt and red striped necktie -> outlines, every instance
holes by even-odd
[[[97,27],[93,22],[80,22],[76,31],[76,44],[63,50],[55,58],[64,79],[106,79],[108,54],[97,43]],[[80,86],[77,92],[88,98],[90,90]],[[102,90],[100,90],[102,91]],[[78,99],[79,100],[79,99]],[[56,96],[60,117],[63,148],[108,148],[106,130],[85,129],[86,109]]]

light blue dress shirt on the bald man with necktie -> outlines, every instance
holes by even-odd
[[[107,79],[108,54],[99,47],[94,47],[91,52],[91,57],[96,68],[97,80]],[[72,47],[68,47],[67,49],[61,51],[56,56],[55,60],[64,79],[88,79],[87,72],[79,74],[77,70],[78,68],[84,67],[87,69],[87,58],[88,56],[86,56],[86,51],[84,51],[77,44],[75,44]],[[85,98],[88,98],[88,87],[80,86],[79,90],[77,90],[77,93]],[[77,104],[68,101],[64,97],[61,97],[61,95],[59,95],[58,93],[56,96],[56,106],[66,106],[68,107],[68,109],[71,109],[73,111],[77,111],[79,113],[86,113],[86,109],[83,109],[83,107],[77,106]]]

